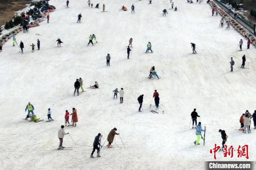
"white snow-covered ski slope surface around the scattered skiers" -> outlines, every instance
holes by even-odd
[[[91,0],[94,7],[97,3]],[[84,0],[51,0],[57,10],[50,13],[50,23],[30,28],[29,34],[19,33],[17,42],[24,42],[24,54],[12,47],[9,40],[0,54],[0,169],[203,169],[203,161],[212,161],[210,149],[221,146],[218,130],[229,136],[226,144],[235,148],[249,145],[249,160],[255,161],[255,130],[252,134],[234,131],[240,127],[239,118],[248,109],[255,110],[256,49],[246,50],[246,40],[235,30],[219,28],[220,16],[211,16],[211,7],[174,1],[178,11],[169,10],[170,2],[153,0],[102,0],[106,11],[89,8]],[[131,5],[135,14],[131,14]],[[125,5],[128,11],[119,11]],[[168,15],[162,16],[167,9]],[[77,16],[82,14],[82,23]],[[38,36],[35,34],[40,34]],[[87,46],[90,34],[99,43]],[[41,50],[31,53],[29,45],[39,38]],[[57,48],[53,43],[64,42]],[[131,59],[126,47],[133,38]],[[237,44],[244,40],[243,51]],[[153,54],[146,54],[147,42]],[[198,54],[192,55],[196,44]],[[29,50],[28,50],[29,49]],[[37,48],[35,48],[37,49]],[[111,55],[106,67],[106,54]],[[246,67],[241,65],[246,55]],[[234,72],[230,72],[230,57],[234,58]],[[160,80],[149,80],[151,66]],[[73,97],[74,82],[82,77],[87,92]],[[99,83],[99,89],[86,89]],[[124,88],[124,103],[113,100],[112,90]],[[157,89],[160,109],[164,114],[150,112]],[[143,110],[139,113],[137,98],[144,94]],[[30,123],[26,116],[27,102],[35,107],[35,114],[47,119],[51,108],[52,123]],[[65,110],[78,112],[78,126],[65,128],[63,146],[73,150],[58,151],[57,131],[64,124]],[[206,145],[195,146],[195,130],[188,128],[191,112],[196,108],[202,127],[207,127]],[[70,119],[71,120],[71,117]],[[199,121],[199,119],[198,119]],[[109,131],[116,127],[125,148],[116,136],[113,148],[101,150],[101,158],[91,159],[94,137],[100,132],[102,143]],[[235,154],[236,155],[236,154]],[[95,156],[95,154],[94,154]],[[245,158],[223,158],[222,161]]]

